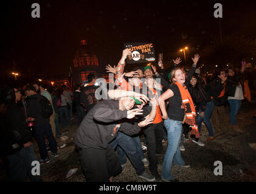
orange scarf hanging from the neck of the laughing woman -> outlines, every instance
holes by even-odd
[[[181,92],[182,108],[184,108],[186,116],[185,123],[192,127],[191,134],[199,138],[198,125],[196,124],[196,109],[189,90],[185,85],[182,86],[178,82],[175,82],[175,84],[178,86],[179,92]]]

